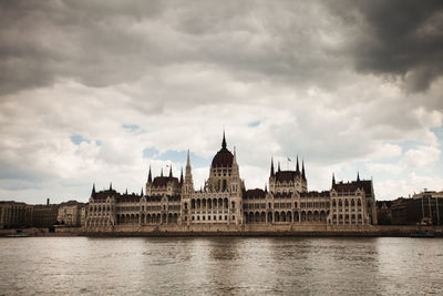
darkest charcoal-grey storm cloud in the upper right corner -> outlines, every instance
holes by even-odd
[[[358,71],[400,75],[412,92],[429,89],[442,75],[443,1],[327,3],[354,32],[342,50],[354,58]]]

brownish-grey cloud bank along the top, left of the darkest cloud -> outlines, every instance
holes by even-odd
[[[3,1],[0,93],[75,80],[109,86],[204,64],[239,80],[333,83],[317,3]],[[312,24],[312,25],[310,25]],[[322,30],[322,29],[321,29]]]

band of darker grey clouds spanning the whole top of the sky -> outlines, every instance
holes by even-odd
[[[441,8],[441,1],[2,1],[0,93],[61,79],[109,86],[189,63],[244,81],[324,88],[353,63],[423,91],[442,74]],[[341,45],[324,40],[336,35]]]

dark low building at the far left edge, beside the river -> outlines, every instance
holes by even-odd
[[[32,205],[17,202],[0,202],[0,228],[31,226]]]

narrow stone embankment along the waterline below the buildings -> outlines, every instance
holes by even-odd
[[[17,234],[20,234],[19,236]],[[293,227],[293,225],[224,225],[223,227],[156,225],[136,226],[120,225],[109,228],[84,229],[82,227],[2,229],[0,236],[94,236],[94,237],[127,237],[127,236],[308,236],[308,237],[410,237],[410,236],[443,237],[443,226],[415,225],[375,225],[365,227]]]

